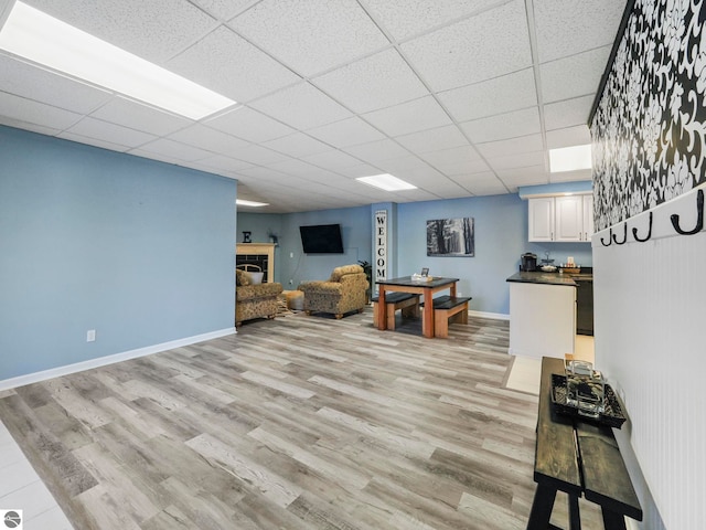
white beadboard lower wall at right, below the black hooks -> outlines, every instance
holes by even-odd
[[[695,226],[696,190],[652,213],[646,243],[635,242],[632,227],[644,237],[649,212],[627,221],[624,245],[603,246],[609,230],[593,235],[596,365],[623,396],[630,416],[616,434],[645,512],[640,528],[702,530],[706,231],[680,235],[670,221],[676,213],[684,230]],[[622,241],[623,223],[612,231]]]

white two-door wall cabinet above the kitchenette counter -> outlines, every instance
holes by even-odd
[[[530,241],[590,242],[593,233],[592,195],[530,199],[528,213]]]

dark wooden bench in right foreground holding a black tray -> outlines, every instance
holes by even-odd
[[[552,373],[564,373],[561,359],[542,359],[534,494],[527,530],[557,529],[549,524],[558,490],[568,494],[569,528],[580,530],[578,499],[601,507],[606,530],[625,530],[624,516],[642,520],[620,449],[608,426],[556,414],[552,406]]]

